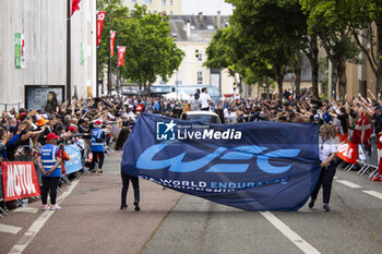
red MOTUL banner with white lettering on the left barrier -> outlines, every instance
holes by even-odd
[[[4,201],[40,195],[35,164],[1,162]]]

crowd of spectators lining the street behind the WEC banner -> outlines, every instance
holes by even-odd
[[[378,135],[382,133],[382,100],[369,90],[361,96],[343,100],[315,98],[310,89],[301,89],[299,96],[284,90],[283,99],[222,98],[213,101],[207,89],[195,90],[184,100],[166,99],[158,96],[112,96],[88,99],[72,99],[59,105],[53,92],[49,92],[46,106],[41,109],[8,108],[0,118],[0,159],[3,161],[36,161],[39,148],[46,144],[48,134],[59,136],[75,158],[67,161],[69,172],[76,173],[80,165],[87,173],[89,168],[91,134],[95,123],[100,122],[106,133],[103,137],[106,155],[112,152],[114,140],[122,126],[132,129],[141,113],[157,113],[180,118],[189,110],[214,111],[222,123],[278,121],[295,123],[330,124],[345,138],[343,158],[339,164],[346,170],[359,169],[359,174],[369,172],[378,177]],[[229,121],[228,121],[229,120]],[[365,140],[363,137],[367,136]],[[351,144],[355,143],[355,144]],[[339,141],[338,141],[339,144]],[[366,158],[358,158],[359,150],[349,147],[362,146]],[[350,153],[351,152],[351,153]],[[81,156],[80,156],[81,154]],[[93,158],[97,159],[97,158]],[[358,166],[353,166],[358,164]],[[339,167],[338,166],[338,167]],[[38,168],[38,167],[36,167]],[[75,169],[72,169],[75,168]],[[73,171],[74,170],[74,171]],[[382,170],[380,171],[380,173]],[[37,170],[40,180],[40,172]],[[77,174],[77,177],[80,177]],[[69,183],[68,178],[63,179]],[[382,181],[382,178],[381,178]]]

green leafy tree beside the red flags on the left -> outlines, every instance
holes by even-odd
[[[169,17],[162,14],[147,13],[146,7],[135,4],[132,15],[120,0],[112,0],[104,7],[112,9],[111,29],[117,29],[118,44],[127,46],[126,63],[120,66],[121,77],[126,81],[143,85],[151,89],[157,76],[164,81],[171,77],[184,57],[170,37]],[[109,27],[108,19],[105,27]],[[103,70],[109,53],[109,32],[103,32],[98,52],[98,66]],[[106,60],[106,61],[105,61]],[[112,59],[112,72],[116,72],[117,56]]]

